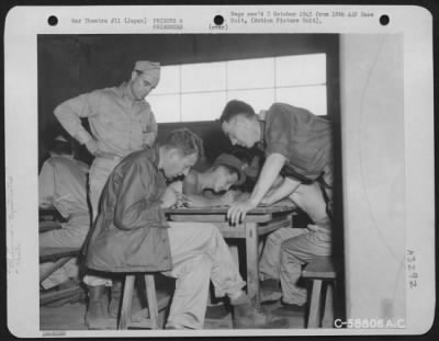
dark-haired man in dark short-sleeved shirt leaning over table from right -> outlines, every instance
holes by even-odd
[[[233,204],[227,218],[234,224],[261,203],[295,197],[296,204],[313,219],[314,225],[305,230],[279,230],[272,246],[271,259],[275,262],[280,245],[278,269],[283,308],[303,310],[306,291],[297,285],[301,268],[315,257],[331,253],[331,125],[307,110],[284,103],[274,103],[257,115],[249,104],[237,100],[227,103],[219,123],[233,145],[246,148],[258,145],[266,154],[250,197]],[[272,187],[277,180],[278,186]],[[286,236],[281,235],[285,231]],[[262,254],[262,270],[264,261]],[[270,271],[266,274],[270,277]],[[271,274],[278,276],[277,272]]]

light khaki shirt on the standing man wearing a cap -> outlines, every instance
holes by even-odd
[[[157,137],[157,123],[146,101],[133,101],[127,83],[117,88],[94,90],[67,100],[55,109],[63,127],[80,144],[90,134],[81,124],[88,117],[98,151],[119,157],[153,146]]]

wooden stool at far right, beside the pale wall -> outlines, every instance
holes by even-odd
[[[334,323],[333,292],[337,279],[333,260],[328,257],[314,259],[302,271],[302,277],[313,281],[306,328],[322,326],[331,328]],[[322,307],[323,298],[325,303]]]

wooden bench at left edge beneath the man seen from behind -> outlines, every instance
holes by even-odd
[[[56,270],[61,268],[72,258],[79,255],[80,249],[67,249],[67,248],[45,248],[40,250],[40,263],[53,262],[50,266],[40,271],[40,283],[53,274]],[[68,298],[78,295],[82,292],[82,288],[78,285],[77,287],[69,287],[59,291],[50,291],[48,293],[40,293],[40,305],[45,305],[58,299]]]

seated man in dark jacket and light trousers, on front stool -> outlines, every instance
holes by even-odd
[[[212,224],[167,221],[166,179],[187,174],[203,155],[201,139],[188,129],[172,132],[161,146],[136,151],[111,173],[100,214],[85,248],[86,265],[101,272],[167,272],[177,280],[166,328],[201,329],[210,281],[234,306],[235,328],[280,328],[256,309],[227,245]],[[170,271],[170,272],[169,272]],[[89,328],[115,328],[105,312],[103,287],[92,287]],[[278,323],[278,325],[277,325]]]

